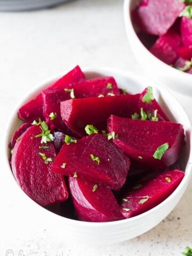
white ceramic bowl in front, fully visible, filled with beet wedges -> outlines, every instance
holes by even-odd
[[[154,95],[156,100],[164,109],[167,116],[175,122],[181,123],[184,126],[186,133],[186,145],[185,154],[182,156],[183,170],[185,170],[185,177],[181,181],[180,185],[175,189],[175,191],[167,198],[164,202],[157,205],[153,209],[142,213],[136,217],[105,223],[93,223],[77,221],[72,219],[67,219],[56,215],[50,211],[45,210],[43,207],[39,206],[33,200],[31,200],[17,185],[9,165],[9,149],[8,145],[11,140],[13,132],[19,127],[20,121],[17,116],[17,109],[15,110],[11,121],[7,127],[7,135],[5,141],[5,152],[7,159],[7,168],[3,170],[9,173],[9,179],[7,186],[12,188],[12,193],[17,193],[18,202],[20,201],[26,206],[26,215],[31,221],[33,221],[34,214],[38,216],[39,221],[33,222],[33,230],[39,228],[39,226],[44,223],[47,232],[55,234],[60,239],[65,241],[66,237],[71,239],[71,241],[94,243],[94,244],[110,244],[122,242],[127,239],[139,236],[149,229],[155,227],[159,222],[161,222],[167,214],[169,214],[175,205],[179,202],[182,194],[187,188],[189,179],[191,177],[191,124],[189,118],[187,117],[185,111],[182,109],[180,104],[174,97],[166,90],[158,90],[158,85],[151,82],[149,79],[139,76],[134,73],[122,73],[118,70],[113,69],[84,69],[87,78],[92,78],[96,76],[114,76],[118,86],[126,89],[130,93],[138,93],[145,89],[146,86],[153,86]],[[65,74],[65,73],[64,73]],[[60,74],[54,78],[50,78],[47,81],[39,84],[37,89],[31,93],[26,99],[21,102],[21,105],[31,98],[34,98],[39,91],[49,86],[54,81],[56,81],[63,74]],[[20,105],[20,106],[21,106]],[[15,209],[17,211],[17,209]],[[23,215],[23,218],[25,216]],[[37,227],[38,226],[38,227]]]

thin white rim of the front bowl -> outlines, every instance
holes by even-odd
[[[188,130],[189,130],[189,146],[191,148],[191,145],[192,145],[192,136],[191,136],[191,123],[190,123],[190,119],[189,117],[187,116],[186,114],[186,111],[183,109],[183,107],[180,105],[180,103],[178,102],[177,99],[175,99],[173,97],[173,95],[165,90],[164,88],[161,88],[161,89],[158,89],[158,84],[156,82],[154,82],[153,80],[151,80],[150,78],[148,77],[145,77],[145,76],[142,76],[142,75],[139,75],[137,73],[134,73],[132,71],[122,71],[122,70],[119,70],[119,69],[114,69],[114,68],[106,68],[106,67],[100,67],[100,68],[82,68],[83,72],[85,73],[85,76],[87,74],[94,74],[94,73],[98,73],[98,74],[102,74],[102,75],[105,75],[105,73],[111,73],[111,76],[114,76],[117,74],[118,76],[121,76],[121,77],[126,77],[126,78],[130,78],[130,77],[133,77],[134,79],[139,79],[142,77],[142,79],[146,80],[146,81],[150,81],[150,82],[153,82],[154,83],[154,87],[156,87],[157,90],[159,90],[159,92],[163,91],[163,92],[166,92],[168,93],[171,98],[178,103],[179,107],[181,108],[182,112],[185,114],[185,118],[187,118],[187,122],[188,122]],[[183,187],[183,185],[186,185],[186,188],[187,188],[187,185],[189,183],[189,180],[191,178],[191,175],[192,175],[192,170],[191,170],[191,162],[192,162],[192,150],[190,150],[189,152],[189,156],[188,156],[188,161],[187,161],[187,164],[186,164],[186,169],[185,171],[187,170],[187,173],[185,174],[185,176],[183,177],[182,181],[180,182],[179,186],[173,191],[173,193],[167,197],[162,203],[158,204],[157,206],[153,207],[152,209],[146,211],[146,212],[143,212],[137,216],[134,216],[134,217],[131,217],[129,219],[123,219],[123,220],[116,220],[116,221],[108,221],[108,222],[90,222],[90,221],[81,221],[81,220],[74,220],[74,219],[69,219],[67,217],[62,217],[61,215],[58,215],[58,214],[55,214],[49,210],[46,210],[43,206],[39,205],[38,203],[36,203],[35,201],[33,201],[33,199],[31,199],[21,188],[20,186],[18,185],[17,181],[14,179],[14,176],[12,174],[12,171],[11,171],[11,167],[10,167],[10,164],[9,164],[9,148],[8,148],[8,145],[9,145],[9,142],[10,142],[10,137],[11,137],[11,134],[13,134],[13,132],[15,131],[12,131],[11,132],[11,124],[13,123],[13,121],[15,119],[19,119],[17,117],[17,111],[19,109],[19,107],[21,107],[23,105],[23,103],[25,103],[29,98],[31,99],[31,95],[37,95],[42,89],[44,89],[46,86],[48,86],[50,83],[53,83],[54,81],[57,81],[58,78],[62,77],[63,74],[67,74],[67,72],[65,72],[65,70],[62,72],[62,73],[59,73],[57,75],[54,75],[54,76],[51,76],[50,78],[46,78],[44,79],[42,82],[38,83],[37,86],[34,87],[33,90],[30,91],[28,95],[28,97],[25,98],[25,100],[23,100],[22,102],[20,102],[18,104],[18,106],[15,108],[15,110],[13,111],[13,113],[11,114],[11,118],[9,118],[9,123],[7,124],[7,127],[6,127],[6,136],[5,136],[5,142],[4,142],[4,146],[5,146],[5,152],[6,152],[6,164],[7,164],[7,167],[9,168],[9,176],[12,180],[12,183],[14,183],[13,186],[17,186],[17,190],[19,191],[20,190],[20,194],[22,196],[22,199],[23,199],[23,202],[25,200],[28,200],[30,201],[30,204],[34,204],[35,207],[37,207],[37,209],[42,209],[43,211],[46,211],[46,214],[51,214],[52,216],[56,216],[56,218],[59,218],[61,219],[61,221],[65,221],[65,222],[68,222],[68,223],[75,223],[75,225],[77,226],[84,226],[84,227],[111,227],[111,226],[117,226],[118,224],[124,224],[124,223],[129,223],[129,222],[134,222],[134,221],[137,221],[139,219],[142,219],[143,217],[147,217],[148,215],[150,215],[153,211],[158,211],[159,208],[161,208],[163,205],[167,204],[169,201],[172,200],[172,198],[175,196],[175,195],[178,195],[179,197],[179,194],[180,194],[180,190],[181,188]],[[7,171],[7,169],[6,169]],[[182,195],[181,195],[182,196]],[[181,197],[180,196],[180,197]],[[179,198],[180,198],[179,197]],[[39,207],[40,206],[40,207]],[[54,215],[53,215],[54,214]],[[51,216],[50,215],[50,216]]]

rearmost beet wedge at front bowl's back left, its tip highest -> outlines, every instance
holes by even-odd
[[[61,77],[53,85],[50,85],[49,89],[64,89],[71,83],[78,82],[84,79],[85,75],[79,66],[76,66],[73,70],[69,71],[65,76]],[[38,121],[39,118],[44,119],[43,116],[43,98],[41,93],[37,95],[35,99],[28,101],[18,110],[19,118],[26,122]]]

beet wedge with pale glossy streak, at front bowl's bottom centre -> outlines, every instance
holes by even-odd
[[[69,177],[69,189],[79,220],[106,222],[124,219],[114,194],[79,177]]]

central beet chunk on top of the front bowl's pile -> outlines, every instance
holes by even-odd
[[[91,154],[99,157],[100,162],[93,161]],[[113,141],[102,134],[91,134],[77,143],[65,143],[53,162],[52,172],[68,176],[77,173],[78,177],[119,190],[129,167],[129,158]]]

